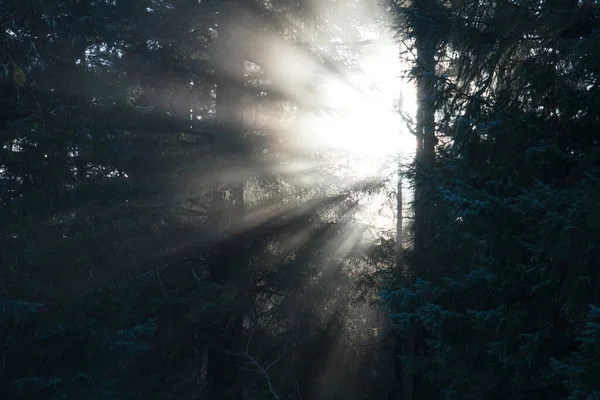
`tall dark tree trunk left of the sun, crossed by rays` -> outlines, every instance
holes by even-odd
[[[220,172],[232,168],[241,159],[243,138],[243,82],[244,56],[241,37],[235,29],[234,10],[223,7],[219,26],[219,50],[217,54],[218,82],[216,114],[222,129],[217,138],[220,153]],[[234,229],[244,222],[243,177],[227,174],[217,182],[212,191],[209,229],[215,235],[209,257],[210,279],[217,285],[233,284],[246,264],[244,243]],[[236,301],[240,301],[236,299]],[[231,308],[231,307],[229,307]],[[207,392],[208,399],[240,400],[240,356],[238,351],[242,331],[240,312],[219,310],[211,331],[211,350],[208,354]]]

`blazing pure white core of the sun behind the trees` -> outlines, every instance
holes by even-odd
[[[414,137],[400,115],[406,110],[398,105],[411,93],[398,77],[400,70],[398,47],[388,43],[368,52],[354,75],[332,76],[322,99],[331,111],[318,119],[322,143],[375,158],[410,152]]]

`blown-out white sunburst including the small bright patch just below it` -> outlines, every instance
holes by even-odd
[[[323,101],[330,113],[316,119],[317,143],[350,160],[359,179],[390,178],[394,191],[398,158],[410,156],[415,138],[408,132],[402,113],[414,115],[416,101],[410,84],[402,82],[398,45],[379,38],[365,51],[359,72],[350,79],[331,77]],[[396,204],[386,193],[365,199],[362,218],[376,231],[395,228]]]

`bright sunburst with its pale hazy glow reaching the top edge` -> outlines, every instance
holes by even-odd
[[[388,178],[392,192],[396,156],[415,148],[400,115],[414,115],[416,104],[413,88],[399,77],[405,68],[398,43],[377,22],[383,13],[375,1],[313,6],[319,21],[313,28],[290,16],[284,32],[239,33],[244,51],[261,60],[246,64],[244,78],[265,88],[264,97],[245,105],[243,123],[267,132],[269,151],[285,158],[271,172],[286,174],[291,185],[327,197],[352,183]],[[230,60],[220,60],[218,67],[227,69]],[[381,216],[385,198],[364,202],[378,225],[393,225],[393,205]]]

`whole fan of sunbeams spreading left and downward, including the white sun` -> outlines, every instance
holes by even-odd
[[[365,2],[370,7],[362,7]],[[252,100],[229,105],[242,109],[228,114],[241,115],[246,136],[261,136],[267,149],[245,163],[224,153],[223,162],[199,180],[246,182],[245,221],[228,227],[227,233],[276,242],[268,260],[271,269],[293,269],[297,265],[288,256],[301,254],[309,271],[298,277],[300,282],[287,277],[288,297],[265,304],[270,308],[281,302],[293,316],[307,300],[315,302],[324,325],[351,308],[346,261],[368,249],[377,231],[394,225],[393,206],[386,209],[382,191],[394,186],[389,176],[398,154],[412,153],[415,147],[399,115],[399,108],[409,114],[416,109],[410,84],[398,77],[399,47],[389,32],[365,27],[377,14],[374,4],[314,1],[315,21],[304,23],[303,29],[293,17],[285,18],[277,31],[235,21],[230,34],[237,35],[233,40],[238,44],[215,64],[237,89],[244,85],[251,92],[247,98]],[[353,29],[356,21],[365,26]],[[244,57],[236,53],[240,49]],[[240,76],[231,76],[236,69],[230,63],[242,58]],[[270,161],[260,164],[261,157]],[[361,315],[356,311],[352,323]],[[341,368],[349,329],[335,333],[321,366],[323,375],[335,370],[338,380],[350,376],[351,371]]]

